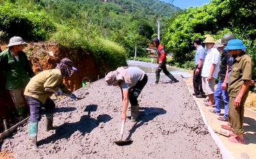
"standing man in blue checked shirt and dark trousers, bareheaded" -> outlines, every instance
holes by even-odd
[[[206,56],[205,50],[201,45],[202,41],[199,38],[194,40],[194,46],[197,48],[195,52],[195,69],[193,73],[193,86],[194,94],[197,98],[204,98],[204,92],[202,88],[201,71],[203,69],[203,62]]]

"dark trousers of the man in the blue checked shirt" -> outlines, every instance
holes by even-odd
[[[204,94],[203,87],[202,87],[202,76],[201,76],[202,68],[200,69],[198,74],[195,74],[197,67],[198,66],[195,67],[194,73],[193,73],[194,92],[195,92],[195,94]]]

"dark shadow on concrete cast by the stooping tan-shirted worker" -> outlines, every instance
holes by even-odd
[[[90,117],[91,111],[96,111],[97,108],[98,105],[87,105],[85,111],[88,111],[88,115],[82,116],[79,122],[64,123],[55,127],[55,134],[38,141],[38,145],[51,143],[52,141],[57,141],[59,139],[68,139],[76,132],[76,130],[79,130],[82,133],[81,135],[84,136],[85,133],[90,133],[91,130],[98,127],[100,122],[109,122],[111,116],[107,114],[101,114],[96,119]]]

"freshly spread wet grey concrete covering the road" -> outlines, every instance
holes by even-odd
[[[149,75],[139,96],[139,122],[126,122],[124,139],[131,138],[130,145],[113,143],[120,138],[122,96],[100,79],[76,91],[84,99],[57,102],[55,130],[46,132],[42,117],[38,152],[27,148],[27,124],[5,139],[1,150],[14,152],[14,158],[221,158],[186,84],[177,78],[179,83],[170,84],[163,76],[155,85]]]

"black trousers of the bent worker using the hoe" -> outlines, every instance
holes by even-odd
[[[141,90],[144,88],[144,86],[147,84],[147,75],[145,74],[143,79],[139,82],[137,82],[137,84],[130,88],[129,90],[129,101],[130,101],[130,105],[138,105],[138,96],[141,93]]]

